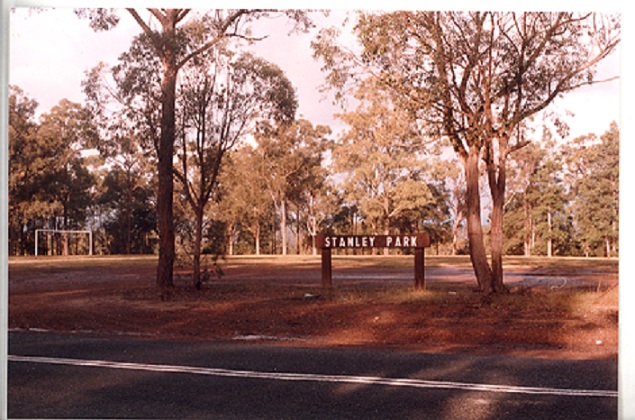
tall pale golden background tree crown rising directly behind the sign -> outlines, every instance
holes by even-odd
[[[339,115],[350,128],[333,150],[334,168],[345,174],[347,201],[359,207],[374,233],[388,232],[396,219],[412,217],[432,199],[420,179],[416,123],[380,88],[360,86],[357,110]]]

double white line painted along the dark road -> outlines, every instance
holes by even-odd
[[[330,383],[351,383],[365,385],[404,386],[427,389],[454,389],[512,394],[558,395],[569,397],[609,397],[617,398],[618,392],[611,390],[587,390],[566,388],[539,388],[514,385],[489,385],[464,382],[427,381],[422,379],[382,378],[373,376],[318,375],[307,373],[258,372],[250,370],[216,369],[193,366],[155,365],[143,363],[111,362],[104,360],[79,360],[37,356],[7,357],[9,362],[44,363],[69,366],[87,366],[109,369],[128,369],[150,372],[189,373],[195,375],[222,376],[231,378],[270,379],[278,381],[310,381]]]

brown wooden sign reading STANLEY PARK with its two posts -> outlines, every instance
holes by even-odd
[[[322,287],[333,286],[331,250],[336,248],[414,248],[415,288],[425,289],[425,248],[430,246],[430,236],[414,235],[325,235],[315,237],[317,248],[322,250]]]

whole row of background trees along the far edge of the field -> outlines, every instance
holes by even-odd
[[[402,111],[378,89],[362,87],[358,99],[338,116],[348,127],[339,135],[297,120],[284,132],[260,127],[228,150],[201,218],[202,253],[311,254],[321,232],[425,231],[436,253],[467,254],[465,179],[456,160],[414,142]],[[36,118],[37,101],[12,86],[9,105],[10,253],[33,255],[36,229],[92,230],[95,254],[156,253],[151,151],[119,136],[115,150],[96,153],[99,130],[78,103],[61,100]],[[510,165],[505,254],[617,256],[617,124],[569,142],[546,128],[540,135]],[[182,255],[192,255],[196,240],[187,201],[177,188]],[[82,235],[42,239],[40,255],[87,252]]]

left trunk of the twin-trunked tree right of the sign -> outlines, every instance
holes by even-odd
[[[492,293],[494,291],[491,282],[492,272],[487,262],[481,224],[478,160],[479,150],[476,147],[470,147],[467,157],[463,159],[466,182],[467,237],[470,244],[470,259],[479,289],[485,293]]]

